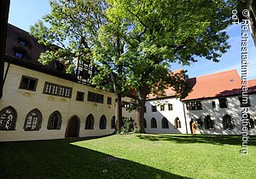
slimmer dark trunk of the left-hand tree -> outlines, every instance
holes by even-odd
[[[115,129],[120,130],[122,126],[122,95],[115,94]]]

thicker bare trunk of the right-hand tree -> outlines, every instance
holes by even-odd
[[[138,107],[137,107],[137,113],[136,113],[136,123],[137,123],[138,133],[145,133],[143,118],[144,118],[146,97],[147,97],[146,90],[141,90],[138,96]]]

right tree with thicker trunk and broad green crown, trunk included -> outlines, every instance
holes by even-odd
[[[137,90],[137,127],[143,132],[146,96],[164,89],[169,81],[181,89],[178,78],[165,79],[170,63],[189,65],[196,57],[218,61],[230,48],[224,29],[231,23],[233,2],[226,0],[109,0],[113,18],[129,28],[123,34],[127,83]],[[158,88],[155,88],[157,85]]]

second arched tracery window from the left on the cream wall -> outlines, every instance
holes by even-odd
[[[33,109],[26,115],[24,130],[40,130],[42,124],[42,113],[38,109]]]

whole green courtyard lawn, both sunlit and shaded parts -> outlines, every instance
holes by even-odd
[[[0,143],[0,178],[255,178],[256,137],[127,135]]]

